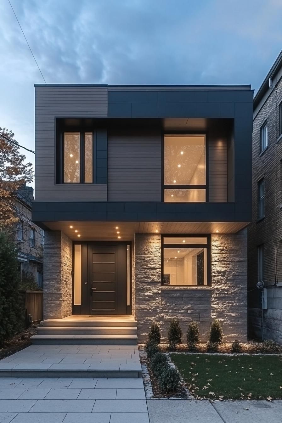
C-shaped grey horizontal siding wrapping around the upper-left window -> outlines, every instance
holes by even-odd
[[[107,201],[106,184],[55,185],[55,118],[107,117],[107,87],[36,86],[36,201]]]

